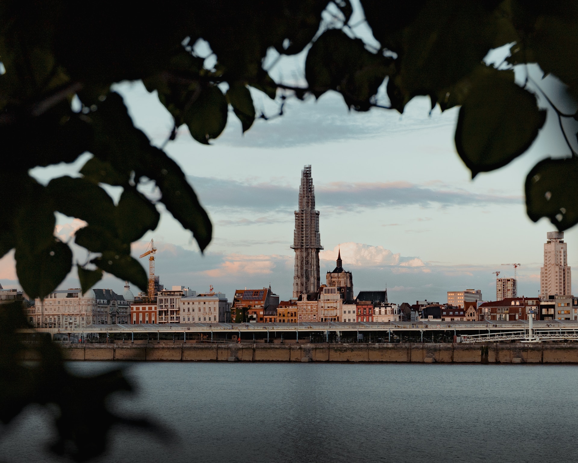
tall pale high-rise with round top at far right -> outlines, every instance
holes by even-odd
[[[571,295],[571,281],[564,232],[548,232],[544,244],[544,266],[540,269],[540,299]]]

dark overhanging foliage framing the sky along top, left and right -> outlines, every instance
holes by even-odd
[[[347,0],[169,0],[154,10],[109,0],[2,2],[0,257],[16,249],[18,279],[28,296],[47,295],[73,267],[69,245],[54,237],[55,211],[87,223],[75,234],[88,255],[86,262],[76,263],[83,290],[96,284],[103,271],[147,287],[146,272],[130,250],[132,242],[157,226],[158,202],[192,232],[201,251],[211,240],[208,214],[183,172],[134,126],[123,99],[110,90],[113,83],[142,80],[174,119],[167,141],[186,124],[202,144],[222,133],[229,113],[238,117],[243,131],[255,117],[264,117],[255,111],[255,91],[283,100],[333,90],[355,111],[380,106],[403,112],[413,97],[427,95],[432,108],[460,106],[455,145],[472,175],[505,166],[524,153],[546,119],[533,92],[546,95],[528,79],[515,82],[514,65],[537,63],[568,86],[569,99],[578,97],[576,2],[361,4],[377,47],[355,36],[350,24],[355,15]],[[210,67],[206,57],[195,53],[199,39],[210,47]],[[484,64],[489,50],[509,44],[505,63]],[[274,82],[263,68],[271,51],[304,52],[307,85]],[[389,105],[378,104],[382,84]],[[78,104],[79,111],[73,111]],[[569,142],[575,137],[568,137],[562,122],[578,116],[549,104],[572,157],[544,160],[530,172],[527,210],[533,221],[546,216],[564,230],[578,222],[573,188],[578,161]],[[70,163],[85,152],[93,157],[80,178],[56,178],[43,186],[28,175],[31,168]],[[150,181],[160,199],[140,193],[139,185]],[[123,188],[118,204],[103,184]],[[8,357],[17,353],[6,349]],[[54,352],[49,344],[43,349]],[[46,355],[56,356],[58,363],[57,354]],[[14,381],[32,374],[10,365]],[[114,377],[106,381],[103,387],[122,387]],[[10,400],[15,408],[3,420],[20,410],[17,403]],[[61,436],[68,432],[60,431]]]

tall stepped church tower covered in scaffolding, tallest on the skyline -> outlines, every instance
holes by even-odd
[[[317,292],[320,286],[319,251],[323,246],[319,234],[319,211],[315,210],[311,166],[305,166],[301,171],[299,210],[295,211],[295,230],[291,248],[295,249],[293,297]]]

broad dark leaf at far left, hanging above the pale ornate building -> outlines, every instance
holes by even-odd
[[[72,251],[68,245],[54,239],[40,252],[16,248],[18,281],[29,297],[45,297],[54,291],[72,268]]]

